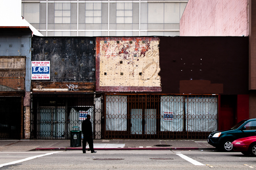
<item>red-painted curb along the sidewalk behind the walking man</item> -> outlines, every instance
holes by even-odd
[[[46,150],[82,150],[82,148],[36,148],[35,151]],[[94,150],[216,150],[216,148],[94,148]]]

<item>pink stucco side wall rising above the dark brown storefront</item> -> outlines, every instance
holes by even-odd
[[[248,36],[247,0],[189,0],[180,36]]]

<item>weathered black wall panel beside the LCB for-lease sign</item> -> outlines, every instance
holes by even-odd
[[[50,61],[50,81],[95,82],[95,38],[33,37],[32,48],[32,61]]]

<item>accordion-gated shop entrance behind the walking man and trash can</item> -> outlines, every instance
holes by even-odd
[[[90,114],[93,137],[100,139],[101,110],[101,94],[33,94],[31,138],[70,139],[72,127],[81,130],[82,121]]]

